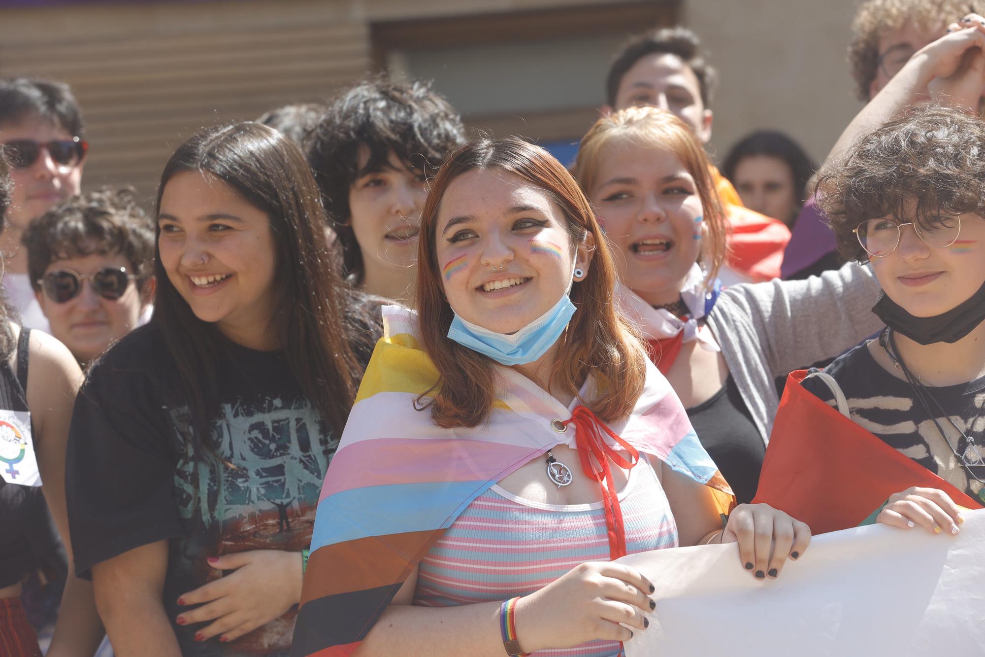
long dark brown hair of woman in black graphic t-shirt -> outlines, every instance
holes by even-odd
[[[332,262],[318,187],[304,156],[288,137],[260,123],[208,128],[179,146],[164,167],[159,213],[164,187],[183,172],[209,174],[267,215],[277,261],[270,323],[304,395],[340,435],[356,399],[360,366],[353,328],[345,319],[348,292]],[[153,322],[177,366],[191,412],[192,442],[214,454],[205,440],[219,412],[220,355],[228,347],[214,325],[195,317],[167,277],[160,225],[155,237]]]

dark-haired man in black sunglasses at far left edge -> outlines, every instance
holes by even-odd
[[[69,86],[33,78],[0,79],[0,145],[14,183],[7,230],[0,237],[3,287],[24,326],[47,331],[21,237],[34,218],[81,190],[89,142],[82,110]]]

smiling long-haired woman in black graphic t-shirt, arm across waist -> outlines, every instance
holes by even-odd
[[[258,123],[181,145],[150,325],[72,420],[72,540],[117,654],[283,655],[318,486],[374,341],[310,170]]]

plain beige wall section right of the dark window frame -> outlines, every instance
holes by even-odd
[[[684,24],[721,73],[711,150],[756,128],[786,132],[820,163],[861,110],[846,62],[855,0],[690,0]]]

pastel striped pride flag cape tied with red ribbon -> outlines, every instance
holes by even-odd
[[[417,315],[387,306],[383,337],[362,378],[318,503],[291,654],[350,655],[427,550],[493,483],[574,429],[571,409],[509,368],[497,368],[489,421],[442,429],[414,401],[438,380]],[[591,383],[582,389],[591,399]],[[572,405],[577,401],[572,402]],[[640,452],[711,487],[722,513],[732,491],[701,447],[681,401],[647,363],[632,414],[609,427]],[[573,465],[573,464],[572,464]]]

